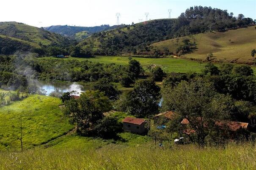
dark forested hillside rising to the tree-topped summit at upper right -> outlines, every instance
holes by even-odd
[[[225,31],[237,27],[246,27],[255,23],[242,14],[211,7],[195,6],[187,9],[177,19],[160,19],[127,25],[106,32],[95,33],[79,46],[91,49],[101,55],[148,55],[157,56],[160,51],[149,45],[161,40],[211,31]]]

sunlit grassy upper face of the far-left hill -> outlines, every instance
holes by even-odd
[[[45,46],[66,43],[66,39],[61,35],[18,22],[0,22],[0,35],[7,35]]]

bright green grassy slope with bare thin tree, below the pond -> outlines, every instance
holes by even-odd
[[[15,135],[19,133],[22,116],[24,148],[55,138],[73,128],[63,118],[55,97],[31,95],[30,97],[0,108],[0,148],[19,148]]]

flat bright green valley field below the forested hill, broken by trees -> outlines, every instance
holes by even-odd
[[[39,59],[56,59],[54,57],[43,57]],[[75,58],[69,57],[68,59],[77,59],[79,61],[89,60],[92,62],[100,63],[116,63],[119,65],[128,65],[128,57],[121,56],[96,56],[94,58]],[[156,65],[162,67],[165,72],[175,72],[175,73],[201,73],[204,69],[206,63],[200,63],[188,59],[176,59],[176,58],[141,58],[133,57],[140,62],[143,68],[146,70],[146,67],[149,65]],[[60,59],[61,60],[61,59]],[[220,64],[215,64],[220,66]],[[254,73],[256,73],[256,67],[252,67]],[[146,70],[147,71],[147,70]]]

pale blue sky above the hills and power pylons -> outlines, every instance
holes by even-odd
[[[131,24],[149,19],[176,18],[187,8],[195,5],[226,9],[256,19],[256,0],[3,0],[0,21],[17,21],[36,27],[50,25],[96,26],[120,23]]]

